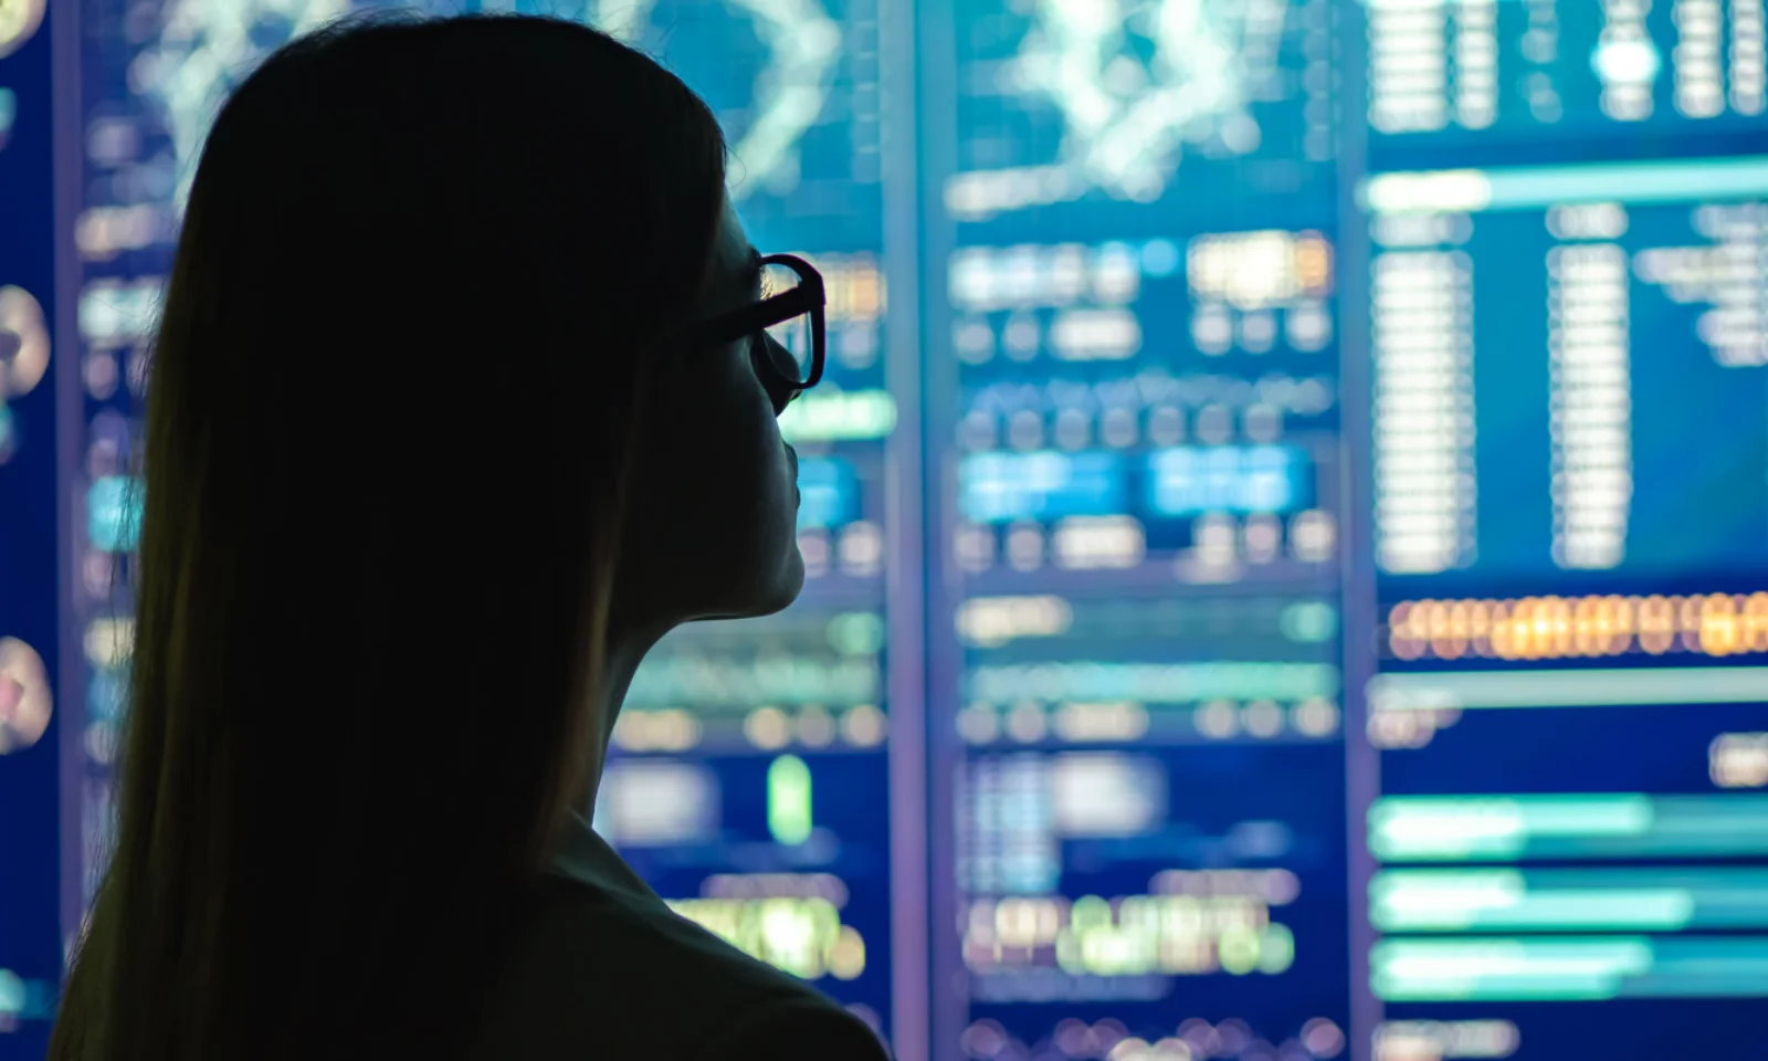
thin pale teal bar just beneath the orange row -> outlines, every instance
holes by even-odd
[[[1768,667],[1411,672],[1368,683],[1374,711],[1756,702],[1768,702]]]

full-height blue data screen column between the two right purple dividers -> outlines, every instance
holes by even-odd
[[[925,18],[934,1056],[1344,1052],[1333,11]]]

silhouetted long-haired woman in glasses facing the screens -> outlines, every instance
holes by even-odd
[[[226,103],[53,1057],[882,1056],[587,824],[645,651],[803,582],[820,281],[758,290],[723,187],[705,104],[569,23],[338,27]]]

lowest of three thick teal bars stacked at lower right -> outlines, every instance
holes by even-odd
[[[1768,941],[1388,939],[1368,974],[1390,1003],[1768,997]]]

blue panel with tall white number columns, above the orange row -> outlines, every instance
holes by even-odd
[[[1367,198],[1384,571],[1763,573],[1768,159],[1384,173]]]

